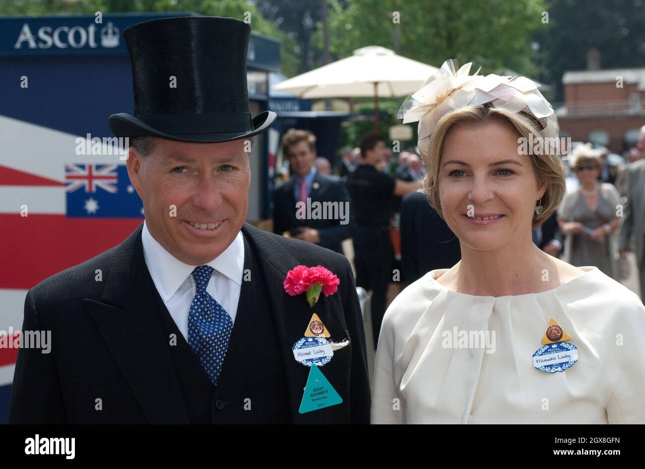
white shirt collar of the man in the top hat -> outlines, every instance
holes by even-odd
[[[181,262],[150,235],[146,222],[143,222],[141,232],[143,243],[143,257],[148,265],[150,276],[159,291],[159,296],[167,302],[189,278],[195,265]],[[244,271],[244,240],[242,232],[239,231],[233,242],[228,245],[223,253],[219,254],[212,261],[206,263],[217,272],[230,278],[237,285],[242,285],[242,274]]]

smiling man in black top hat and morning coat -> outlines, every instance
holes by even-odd
[[[109,123],[132,139],[128,174],[145,221],[30,289],[23,332],[51,331],[52,350],[19,350],[10,423],[367,423],[350,264],[244,222],[247,147],[275,120],[249,113],[250,26],[179,17],[123,36],[135,115]],[[297,265],[323,265],[337,291],[313,308],[305,294],[290,296],[283,282]],[[309,327],[314,312],[324,328]],[[312,339],[328,345],[326,361],[308,367],[292,348],[310,329],[328,333]],[[312,410],[310,372],[339,399]]]

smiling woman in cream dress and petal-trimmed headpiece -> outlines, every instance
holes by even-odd
[[[468,68],[446,62],[402,107],[462,260],[388,308],[372,423],[645,423],[645,307],[531,240],[564,196],[553,110],[527,79]],[[544,372],[533,354],[551,318],[578,359]]]

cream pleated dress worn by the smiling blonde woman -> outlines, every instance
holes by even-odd
[[[645,423],[645,307],[581,269],[517,296],[454,292],[435,280],[448,269],[412,283],[383,319],[372,423]],[[578,349],[561,372],[533,367],[550,318]],[[489,331],[488,346],[455,347],[459,331]]]

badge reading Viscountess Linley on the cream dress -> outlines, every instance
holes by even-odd
[[[551,318],[542,337],[544,347],[533,354],[533,367],[547,373],[573,367],[578,361],[578,349],[572,343],[564,342],[570,338],[562,326]]]

